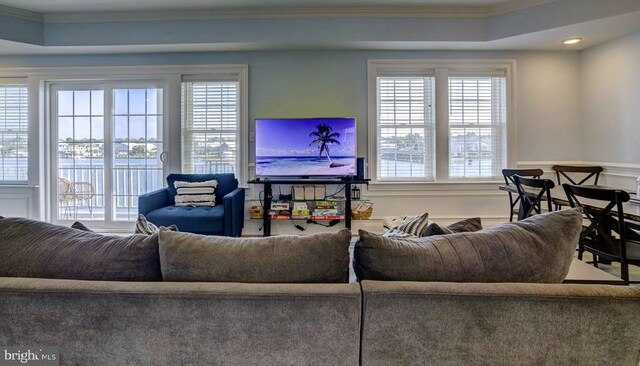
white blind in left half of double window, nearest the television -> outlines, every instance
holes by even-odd
[[[377,179],[431,181],[433,77],[377,78]]]

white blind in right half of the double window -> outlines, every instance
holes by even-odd
[[[506,118],[504,76],[449,77],[449,178],[500,176]]]

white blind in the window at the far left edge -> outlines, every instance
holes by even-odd
[[[27,85],[0,84],[0,182],[28,178]]]

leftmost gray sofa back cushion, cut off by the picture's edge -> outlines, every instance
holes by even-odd
[[[107,236],[0,219],[0,277],[161,281],[158,235]]]

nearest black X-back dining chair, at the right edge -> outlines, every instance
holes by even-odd
[[[578,259],[582,260],[587,251],[593,255],[593,265],[596,267],[601,259],[620,262],[620,278],[629,283],[629,264],[640,266],[640,234],[627,226],[622,206],[629,201],[629,193],[613,188],[566,183],[562,187],[571,207],[582,208],[589,222],[580,234]],[[599,204],[593,205],[590,201],[587,205],[584,199]],[[616,212],[613,212],[614,209]]]

